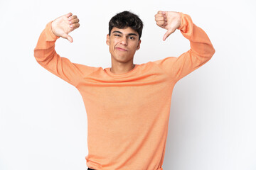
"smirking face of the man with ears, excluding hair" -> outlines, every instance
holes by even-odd
[[[129,62],[133,60],[136,50],[139,50],[141,40],[139,34],[132,28],[112,28],[107,35],[107,45],[110,46],[112,60],[117,62]]]

